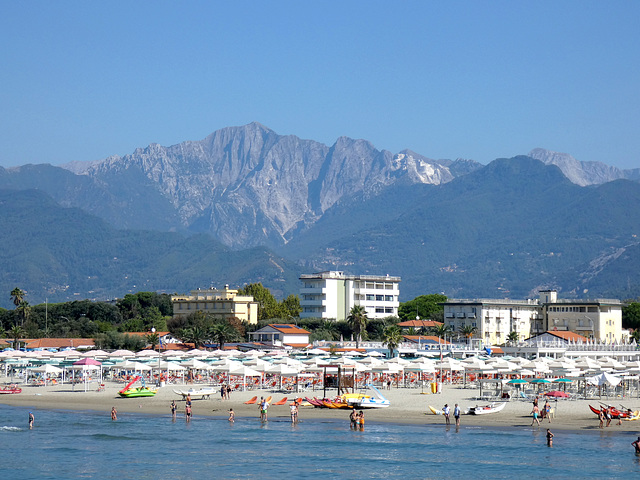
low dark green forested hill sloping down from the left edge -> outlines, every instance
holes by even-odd
[[[300,267],[261,247],[234,252],[208,235],[116,230],[37,190],[0,190],[0,206],[4,307],[15,287],[32,304],[252,282],[278,296],[297,292]]]

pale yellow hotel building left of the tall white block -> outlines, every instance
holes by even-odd
[[[173,315],[186,317],[195,312],[204,312],[218,318],[238,318],[243,322],[258,323],[258,302],[252,296],[238,295],[229,285],[218,290],[192,290],[190,295],[172,295]]]

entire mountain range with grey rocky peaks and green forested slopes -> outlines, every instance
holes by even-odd
[[[639,179],[543,149],[483,166],[251,123],[0,169],[17,215],[3,219],[0,288],[62,300],[262,281],[285,295],[302,272],[338,269],[400,275],[402,300],[637,295]]]

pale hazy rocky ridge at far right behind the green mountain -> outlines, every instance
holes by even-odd
[[[529,152],[529,156],[546,165],[556,165],[569,180],[580,186],[600,185],[621,178],[640,180],[640,168],[620,170],[602,162],[579,162],[567,153],[552,152],[543,148],[534,148]]]

